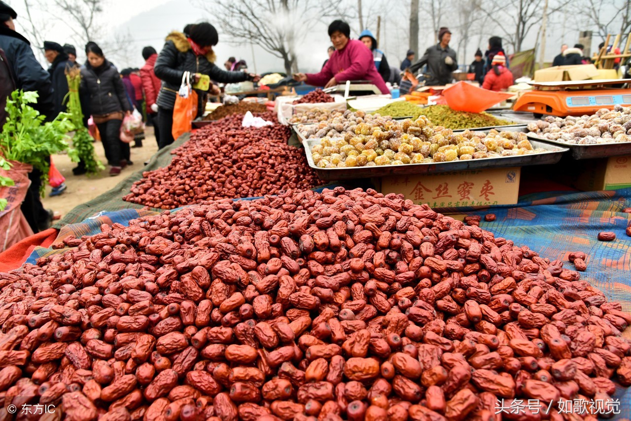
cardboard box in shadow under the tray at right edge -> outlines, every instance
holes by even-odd
[[[631,187],[631,155],[584,161],[574,187],[584,191]]]

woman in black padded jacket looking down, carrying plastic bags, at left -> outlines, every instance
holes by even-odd
[[[121,174],[122,168],[132,165],[129,143],[121,141],[124,114],[131,114],[121,75],[105,59],[103,50],[94,43],[86,45],[88,61],[81,68],[81,90],[89,94],[92,118],[101,135],[110,175]]]

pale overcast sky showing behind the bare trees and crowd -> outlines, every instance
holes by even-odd
[[[237,0],[225,0],[225,1],[237,1]],[[374,32],[376,15],[372,13],[374,8],[371,8],[371,4],[377,4],[384,0],[364,0],[364,16],[367,20],[367,25]],[[612,0],[613,1],[613,0]],[[52,16],[51,12],[54,7],[51,0],[28,0],[31,4],[31,15],[33,21],[40,31],[40,36],[45,40],[52,40],[59,42],[60,44],[70,43],[74,44],[78,54],[80,62],[85,59],[83,55],[83,45],[87,40],[78,39],[73,34],[71,27],[69,27],[69,20],[64,21],[64,16]],[[25,26],[28,27],[30,23],[26,18],[25,0],[9,0],[8,2],[18,13],[18,19],[16,20],[16,30],[21,33],[25,32]],[[210,2],[208,2],[210,3]],[[423,2],[422,2],[423,3]],[[116,54],[115,51],[105,50],[105,55],[109,57],[119,69],[124,67],[140,67],[143,64],[141,56],[141,50],[146,45],[152,45],[158,52],[162,49],[164,39],[168,33],[172,30],[181,31],[184,25],[187,23],[195,23],[202,20],[209,20],[215,24],[219,30],[219,44],[215,47],[217,56],[217,63],[221,65],[228,57],[234,56],[237,59],[245,59],[249,64],[249,69],[254,71],[256,68],[257,73],[264,73],[266,71],[283,71],[283,62],[281,59],[274,57],[268,52],[264,51],[261,47],[249,44],[235,45],[230,44],[227,35],[221,33],[219,28],[219,19],[221,16],[213,16],[206,13],[206,11],[200,10],[195,7],[191,0],[104,0],[105,8],[99,16],[99,23],[103,27],[102,40],[94,40],[99,44],[107,45],[108,41],[111,41],[115,33],[127,33],[131,35],[133,40],[129,45],[127,54]],[[199,3],[196,3],[199,4]],[[356,4],[353,1],[353,4]],[[385,50],[389,64],[391,66],[399,66],[401,59],[404,58],[404,54],[408,49],[408,15],[406,11],[409,8],[408,0],[389,0],[387,1],[386,8],[382,8],[379,14],[382,15],[382,27],[380,49]],[[560,16],[557,16],[557,20]],[[553,57],[558,54],[558,49],[562,42],[574,44],[577,42],[579,30],[589,28],[577,27],[576,18],[569,14],[566,16],[568,22],[572,24],[563,25],[565,31],[562,30],[562,26],[552,22],[548,26],[548,32],[546,36],[546,61],[551,61]],[[456,23],[451,13],[445,13],[442,25],[453,27]],[[451,22],[451,23],[450,23]],[[300,23],[296,23],[299,25]],[[353,33],[351,37],[357,37],[357,23],[351,21],[351,27],[353,27]],[[524,49],[532,48],[536,37],[538,28],[534,27],[529,37],[524,42]],[[498,35],[500,35],[498,33]],[[473,61],[473,53],[480,47],[483,51],[487,47],[488,35],[471,37],[467,43],[467,57],[458,57],[460,64],[469,63]],[[454,31],[452,35],[451,45],[457,48],[457,42],[459,42],[458,34]],[[593,47],[598,45],[599,40],[594,39]],[[428,16],[426,11],[421,12],[420,19],[420,40],[419,46],[423,51],[425,48],[433,44],[433,33],[430,28]],[[305,42],[300,45],[298,51],[298,66],[301,71],[317,71],[322,65],[324,59],[327,58],[326,49],[330,45],[326,33],[326,25],[322,23],[317,27],[312,35],[308,37]],[[505,45],[506,47],[506,45]],[[509,51],[511,53],[512,51]],[[253,54],[254,53],[254,54]],[[124,57],[124,58],[123,58]],[[417,56],[418,57],[418,56]],[[38,56],[43,60],[43,56]],[[537,55],[537,58],[539,56]]]

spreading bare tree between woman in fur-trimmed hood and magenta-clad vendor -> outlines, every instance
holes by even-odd
[[[199,5],[221,16],[220,26],[233,42],[251,42],[283,59],[286,73],[298,71],[297,45],[320,21],[345,15],[334,0],[218,0]]]

